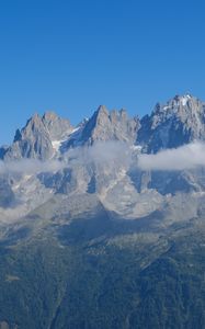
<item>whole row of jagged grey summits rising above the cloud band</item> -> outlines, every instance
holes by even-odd
[[[185,93],[166,104],[157,103],[150,115],[129,118],[126,110],[109,111],[100,105],[93,115],[72,127],[69,120],[55,112],[34,114],[13,144],[1,148],[4,159],[49,159],[70,147],[92,145],[96,140],[122,140],[137,144],[145,152],[157,152],[192,140],[205,140],[205,103]]]

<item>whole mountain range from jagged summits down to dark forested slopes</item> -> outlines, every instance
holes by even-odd
[[[0,328],[205,328],[205,103],[35,114],[0,148]]]

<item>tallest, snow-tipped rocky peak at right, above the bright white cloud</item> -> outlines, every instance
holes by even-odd
[[[175,148],[205,139],[205,104],[190,94],[174,97],[166,105],[157,104],[150,115],[141,118],[137,144],[146,152]]]

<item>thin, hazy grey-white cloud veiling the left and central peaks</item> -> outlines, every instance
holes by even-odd
[[[68,150],[61,160],[20,159],[0,161],[0,174],[36,174],[39,172],[56,172],[76,164],[122,164],[129,166],[130,151],[125,143],[99,141],[92,147],[77,147]]]

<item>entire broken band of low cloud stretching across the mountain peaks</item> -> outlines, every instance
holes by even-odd
[[[113,170],[118,166],[129,166],[140,170],[185,170],[200,166],[205,167],[205,144],[192,143],[176,149],[161,150],[156,155],[138,155],[133,157],[133,150],[122,141],[99,141],[92,147],[78,147],[68,150],[61,160],[41,161],[21,159],[0,161],[0,174],[35,174],[39,172],[56,172],[76,164],[110,164]]]

